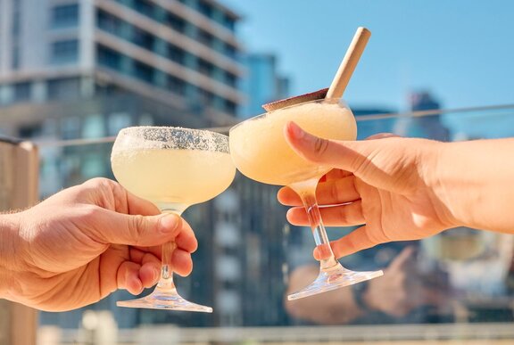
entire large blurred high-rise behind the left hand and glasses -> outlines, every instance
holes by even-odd
[[[101,139],[122,127],[235,124],[252,95],[242,79],[261,73],[245,73],[237,21],[215,0],[0,0],[0,134],[40,144],[41,196],[112,178],[112,143]],[[286,324],[286,217],[276,192],[238,175],[219,198],[185,212],[199,249],[192,275],[176,283],[214,314],[117,308],[127,292],[87,309],[110,310],[121,328]],[[84,310],[40,320],[79,328]]]

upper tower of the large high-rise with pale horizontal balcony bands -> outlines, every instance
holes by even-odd
[[[129,91],[229,123],[237,15],[209,0],[2,0],[0,104]]]

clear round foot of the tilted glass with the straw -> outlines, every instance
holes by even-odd
[[[290,294],[287,296],[287,300],[303,299],[304,297],[329,292],[354,283],[361,283],[381,275],[384,275],[382,271],[353,272],[344,268],[341,264],[337,264],[335,267],[321,270],[314,282],[299,292]]]

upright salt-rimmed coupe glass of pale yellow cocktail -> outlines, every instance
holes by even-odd
[[[236,174],[228,136],[181,127],[121,129],[112,146],[111,162],[114,176],[130,193],[152,201],[162,212],[177,215],[222,193]],[[162,246],[161,278],[150,295],[117,305],[212,312],[178,295],[170,265],[174,250],[175,243]]]

